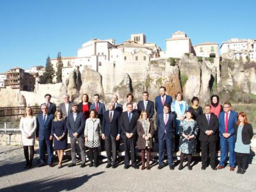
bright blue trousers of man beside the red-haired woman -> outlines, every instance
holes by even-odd
[[[226,139],[220,136],[220,165],[224,166],[229,152],[229,165],[235,167],[235,138],[230,136]]]

